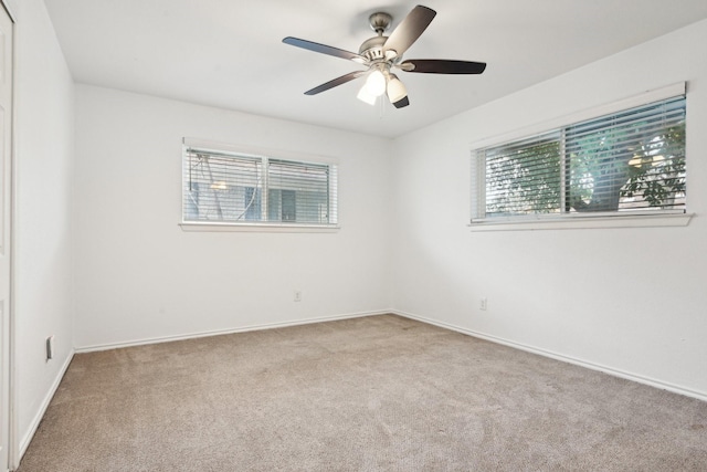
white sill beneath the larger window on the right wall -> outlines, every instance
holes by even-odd
[[[559,218],[484,219],[468,225],[476,231],[536,231],[608,228],[686,227],[694,213],[612,214]]]

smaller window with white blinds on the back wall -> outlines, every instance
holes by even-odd
[[[184,145],[182,220],[330,227],[336,166]]]

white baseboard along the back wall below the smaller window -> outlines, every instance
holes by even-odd
[[[288,326],[308,325],[312,323],[335,322],[337,319],[360,318],[363,316],[384,315],[390,313],[392,313],[390,310],[378,311],[378,312],[348,313],[344,315],[320,316],[316,318],[295,319],[295,321],[282,322],[282,323],[265,323],[262,325],[249,325],[249,326],[241,326],[241,327],[228,328],[228,329],[188,333],[188,334],[181,334],[176,336],[150,337],[150,338],[136,339],[136,340],[128,340],[123,343],[96,344],[92,346],[76,347],[75,350],[77,354],[93,353],[97,350],[119,349],[123,347],[130,347],[130,346],[143,346],[146,344],[170,343],[172,340],[194,339],[198,337],[219,336],[219,335],[234,334],[234,333],[246,333],[251,331],[261,331],[261,329],[284,328]]]

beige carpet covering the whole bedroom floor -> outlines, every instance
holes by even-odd
[[[19,470],[706,471],[707,403],[372,316],[76,355]]]

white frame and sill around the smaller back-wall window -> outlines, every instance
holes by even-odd
[[[184,156],[189,148],[199,149],[203,151],[213,151],[220,154],[232,154],[234,156],[247,156],[263,159],[263,164],[266,165],[268,159],[285,160],[297,164],[315,164],[326,165],[329,167],[329,196],[331,198],[329,207],[329,223],[287,223],[287,222],[271,222],[271,221],[193,221],[184,220],[184,181],[187,176],[184,175]],[[217,143],[200,138],[184,137],[182,139],[182,175],[181,175],[181,206],[180,206],[180,222],[179,225],[183,231],[255,231],[255,232],[336,232],[340,229],[338,223],[338,160],[335,158],[319,156],[319,155],[304,155],[300,153],[293,153],[286,150],[275,150],[267,148],[260,148],[253,146],[241,146],[226,143]],[[266,192],[264,192],[266,193]],[[265,198],[267,198],[265,196]],[[266,203],[266,202],[265,202]]]

